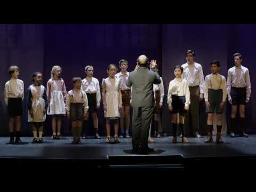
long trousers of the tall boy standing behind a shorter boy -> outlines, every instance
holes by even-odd
[[[190,106],[187,113],[185,113],[185,130],[188,134],[195,134],[199,131],[199,86],[189,87],[190,92]]]

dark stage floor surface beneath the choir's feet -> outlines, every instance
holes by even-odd
[[[149,147],[156,151],[150,155],[182,155],[184,158],[255,156],[256,135],[249,138],[223,136],[224,143],[204,143],[206,137],[188,138],[189,143],[171,143],[172,137],[154,138]],[[31,143],[32,137],[22,137],[22,145],[6,145],[8,137],[0,137],[0,158],[47,158],[47,159],[107,159],[107,156],[129,156],[132,139],[120,139],[120,143],[106,143],[101,139],[82,139],[81,145],[71,145],[72,138],[51,140],[44,137],[44,143]],[[114,139],[114,138],[112,138]],[[215,141],[215,137],[214,137]],[[178,142],[180,138],[178,137]]]

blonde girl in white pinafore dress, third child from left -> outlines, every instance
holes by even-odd
[[[61,115],[66,114],[65,100],[67,97],[67,90],[65,82],[61,78],[61,68],[60,66],[53,66],[51,71],[51,78],[47,82],[47,100],[49,101],[49,106],[47,109],[47,115],[52,117],[52,137],[51,139],[61,139],[60,129],[61,129]],[[56,135],[56,125],[58,127],[58,132]]]

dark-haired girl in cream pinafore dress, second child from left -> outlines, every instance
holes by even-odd
[[[42,79],[42,73],[35,72],[32,76],[34,83],[27,90],[28,122],[33,122],[33,143],[43,142],[43,122],[46,118],[47,95],[45,87],[41,85]]]

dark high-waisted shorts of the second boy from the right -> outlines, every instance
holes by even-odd
[[[222,114],[223,109],[220,107],[220,103],[222,102],[222,90],[213,90],[208,89],[208,101],[210,103],[209,109],[206,107],[206,113],[214,113],[216,111],[217,114]]]

